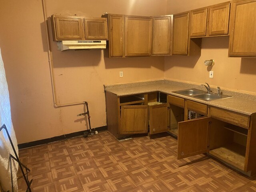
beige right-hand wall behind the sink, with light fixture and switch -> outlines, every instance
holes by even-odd
[[[225,0],[167,0],[167,13],[184,12]],[[171,6],[172,5],[172,6]],[[253,37],[252,37],[253,38]],[[201,56],[166,56],[164,77],[256,94],[256,58],[228,58],[229,37],[202,39]],[[204,66],[204,60],[214,59],[213,67]],[[209,78],[209,71],[214,78]]]

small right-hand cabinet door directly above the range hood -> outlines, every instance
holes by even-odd
[[[107,18],[85,18],[85,38],[86,39],[108,39]]]

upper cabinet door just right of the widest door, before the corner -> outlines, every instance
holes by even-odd
[[[153,18],[152,55],[170,54],[172,16]]]

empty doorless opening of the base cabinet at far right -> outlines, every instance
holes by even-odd
[[[244,170],[248,130],[212,118],[209,153]]]

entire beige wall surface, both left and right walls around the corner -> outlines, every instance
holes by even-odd
[[[51,14],[95,16],[103,12],[164,15],[224,2],[223,0],[46,0]],[[59,52],[50,44],[57,104],[87,101],[92,127],[106,125],[103,84],[158,78],[203,83],[256,92],[256,59],[228,58],[228,37],[204,38],[200,57],[166,56],[104,58],[102,51]],[[31,142],[85,129],[83,106],[53,107],[47,41],[40,0],[2,1],[0,47],[10,92],[12,121],[18,143]],[[214,78],[204,60],[216,60]],[[119,78],[119,71],[124,77]],[[249,83],[250,82],[250,83]]]

